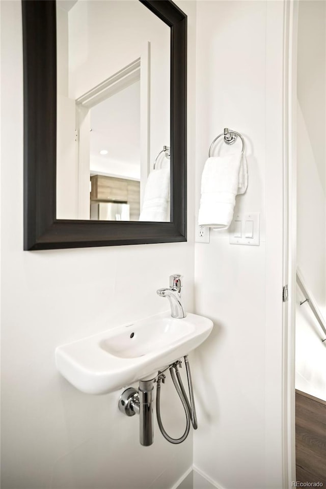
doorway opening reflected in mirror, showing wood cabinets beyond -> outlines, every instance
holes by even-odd
[[[140,82],[90,109],[90,218],[138,221]]]

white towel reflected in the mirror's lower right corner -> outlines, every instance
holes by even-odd
[[[148,175],[140,221],[170,221],[170,168],[152,170]]]

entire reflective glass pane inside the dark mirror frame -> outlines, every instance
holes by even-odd
[[[57,219],[170,221],[170,37],[139,0],[57,1]]]

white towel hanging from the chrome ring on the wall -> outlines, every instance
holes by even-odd
[[[239,190],[240,161],[241,154],[211,156],[207,159],[201,181],[198,213],[200,226],[218,229],[227,229],[230,226],[235,196]],[[241,190],[246,183],[244,180],[243,176]]]

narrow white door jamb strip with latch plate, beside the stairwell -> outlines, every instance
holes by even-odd
[[[284,36],[284,485],[295,481],[296,59],[298,2],[285,3]]]

